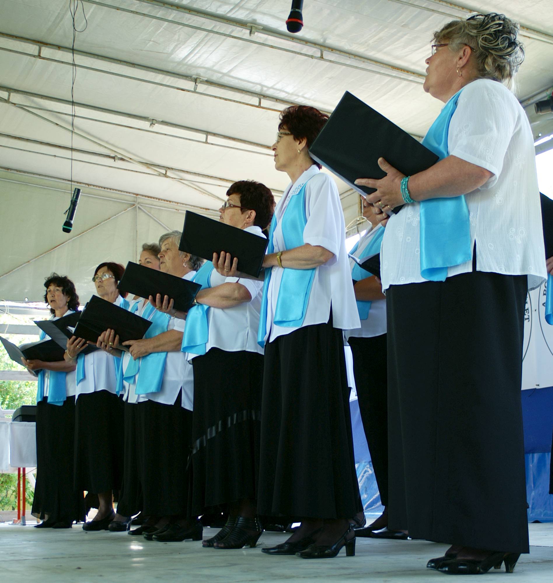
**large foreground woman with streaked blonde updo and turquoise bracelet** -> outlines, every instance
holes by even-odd
[[[404,176],[381,158],[382,180],[357,180],[388,223],[389,528],[452,545],[428,561],[442,573],[512,572],[529,552],[523,318],[547,272],[533,136],[506,87],[518,28],[491,13],[434,33],[423,87],[445,105],[423,144],[439,161]]]

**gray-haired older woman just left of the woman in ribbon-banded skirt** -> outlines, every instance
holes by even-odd
[[[171,231],[159,238],[159,268],[192,280],[200,259],[179,251],[181,234]],[[201,523],[187,514],[193,373],[180,352],[185,321],[157,310],[154,298],[149,300],[145,305],[135,304],[137,311],[142,307],[139,315],[152,322],[145,337],[123,342],[132,357],[123,363],[123,381],[137,395],[137,490],[141,496],[138,500],[125,497],[118,510],[126,516],[141,510],[149,517],[138,529],[147,540],[200,540]],[[106,331],[105,345],[118,346],[118,340],[113,331]]]

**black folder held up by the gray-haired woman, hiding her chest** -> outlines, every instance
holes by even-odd
[[[156,271],[132,261],[127,263],[118,286],[120,291],[130,291],[143,298],[153,296],[155,299],[158,293],[162,298],[169,296],[175,301],[173,307],[183,312],[190,310],[200,287],[199,283]]]

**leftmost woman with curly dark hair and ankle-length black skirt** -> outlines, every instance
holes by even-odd
[[[56,320],[79,308],[75,285],[66,276],[52,273],[44,282],[44,301]],[[44,332],[41,340],[48,338]],[[34,516],[44,522],[35,528],[71,528],[84,520],[83,492],[73,485],[75,442],[75,363],[23,360],[38,370],[37,389],[37,483]]]

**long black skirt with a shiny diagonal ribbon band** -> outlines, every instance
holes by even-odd
[[[211,348],[192,360],[192,512],[257,498],[263,355]]]

